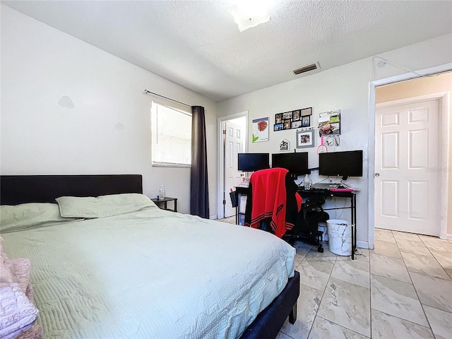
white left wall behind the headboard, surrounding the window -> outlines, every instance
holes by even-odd
[[[151,167],[145,88],[206,107],[215,214],[215,102],[1,5],[1,174],[143,174],[145,194],[164,184],[188,213],[190,169]]]

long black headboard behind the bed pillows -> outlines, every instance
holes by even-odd
[[[59,196],[143,193],[141,174],[2,175],[1,205],[54,203]]]

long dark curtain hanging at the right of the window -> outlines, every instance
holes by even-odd
[[[191,107],[191,194],[190,214],[209,218],[207,180],[206,117],[204,107]]]

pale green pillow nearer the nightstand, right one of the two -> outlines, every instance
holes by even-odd
[[[150,198],[138,193],[111,194],[97,198],[61,196],[57,198],[57,203],[61,215],[66,218],[104,218],[143,208],[157,208]]]

